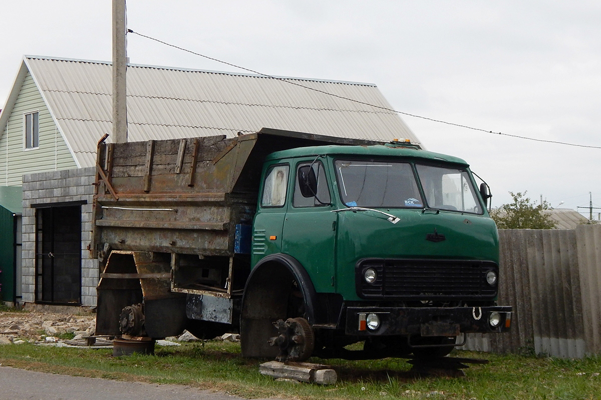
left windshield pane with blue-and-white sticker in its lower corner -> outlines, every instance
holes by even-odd
[[[349,207],[424,206],[408,163],[336,160],[334,165],[342,201]]]

